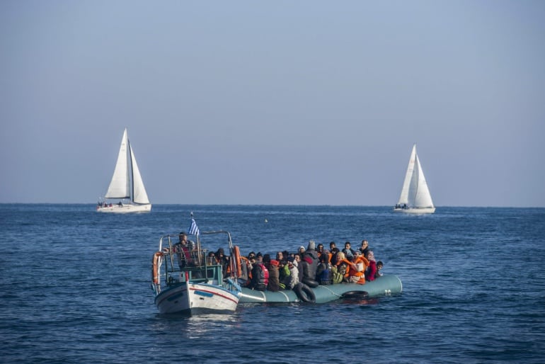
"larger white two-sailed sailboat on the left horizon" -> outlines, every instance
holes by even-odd
[[[115,203],[107,202],[106,199],[115,199]],[[129,203],[126,200],[129,199]],[[112,181],[103,200],[99,200],[96,206],[98,212],[149,212],[149,203],[144,182],[138,169],[134,151],[127,138],[127,128],[123,132],[117,163],[113,171]]]

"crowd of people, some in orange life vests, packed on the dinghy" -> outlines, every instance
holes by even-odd
[[[208,263],[221,264],[224,276],[230,273],[231,256],[226,256],[224,249],[210,252]],[[292,290],[297,284],[304,283],[311,288],[318,285],[338,283],[365,284],[381,276],[383,263],[376,261],[366,239],[360,248],[352,249],[346,241],[343,249],[338,249],[334,241],[329,243],[329,250],[323,244],[310,240],[306,249],[299,246],[294,253],[277,251],[273,258],[270,254],[257,254],[251,251],[247,256],[240,256],[239,283],[252,290]]]

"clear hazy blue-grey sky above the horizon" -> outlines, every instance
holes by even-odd
[[[545,205],[545,1],[0,1],[0,203]]]

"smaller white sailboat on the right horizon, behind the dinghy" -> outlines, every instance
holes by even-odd
[[[394,207],[394,212],[406,212],[412,214],[432,214],[435,212],[432,196],[424,171],[420,165],[420,159],[416,154],[416,144],[413,145],[411,158],[407,166],[405,181],[401,188],[401,195],[397,205]]]

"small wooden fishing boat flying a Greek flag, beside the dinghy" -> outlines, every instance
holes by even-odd
[[[233,246],[229,232],[199,233],[195,220],[190,231],[195,230],[193,226],[197,230],[193,235],[169,234],[159,239],[159,251],[154,254],[151,271],[155,305],[161,314],[235,312],[241,291],[236,281],[237,267],[230,263],[229,277],[226,277],[221,264],[207,259],[207,249],[202,249],[200,236],[227,237],[231,256],[235,256],[238,248]],[[188,237],[194,237],[196,243]],[[223,239],[207,242],[209,245],[222,243]]]

